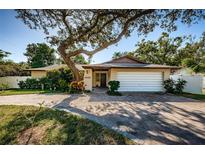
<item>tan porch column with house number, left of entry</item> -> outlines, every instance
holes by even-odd
[[[84,73],[84,83],[85,83],[85,90],[92,91],[92,69],[85,69]]]

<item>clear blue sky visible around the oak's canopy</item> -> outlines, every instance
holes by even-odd
[[[11,52],[8,59],[15,62],[26,62],[26,57],[23,53],[26,52],[26,47],[29,43],[46,42],[45,34],[42,31],[29,29],[20,19],[16,19],[14,10],[0,10],[0,49]],[[192,26],[177,24],[178,29],[170,33],[170,36],[192,35],[196,38],[200,37],[205,31],[205,21],[199,22]],[[117,45],[112,45],[107,49],[95,54],[92,63],[101,63],[108,61],[116,51],[125,52],[133,51],[136,48],[136,43],[141,39],[156,40],[160,37],[162,29],[156,28],[153,32],[145,36],[138,36],[133,32],[130,37],[121,39]]]

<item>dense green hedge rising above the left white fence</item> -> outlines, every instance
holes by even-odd
[[[14,63],[12,61],[0,62],[0,77],[4,76],[29,76],[30,72],[25,71],[28,66],[25,63]]]

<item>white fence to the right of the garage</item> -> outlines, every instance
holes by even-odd
[[[203,90],[203,77],[200,75],[171,75],[173,80],[177,80],[179,78],[187,81],[186,86],[184,87],[184,92],[194,93],[194,94],[202,94]]]

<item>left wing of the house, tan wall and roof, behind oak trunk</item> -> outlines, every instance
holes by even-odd
[[[51,66],[40,67],[40,68],[30,68],[26,70],[31,71],[32,78],[41,78],[41,77],[45,77],[47,72],[49,71],[60,69],[60,68],[66,68],[66,67],[68,67],[66,64],[55,64]],[[84,70],[80,64],[76,64],[76,67],[79,70]]]

